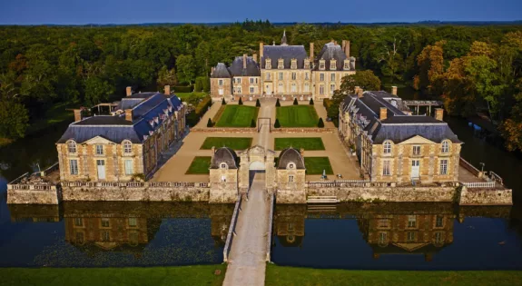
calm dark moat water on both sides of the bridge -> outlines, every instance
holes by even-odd
[[[399,90],[399,95],[401,95]],[[408,96],[419,98],[419,95]],[[449,203],[278,205],[272,260],[343,269],[522,269],[522,159],[447,119],[462,156],[504,178],[513,207]],[[65,126],[0,149],[0,267],[222,262],[233,205],[64,202],[7,205],[6,183],[55,162]],[[382,234],[385,233],[385,234]]]

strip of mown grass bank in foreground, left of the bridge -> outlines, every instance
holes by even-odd
[[[0,268],[2,285],[222,285],[225,264],[129,268]],[[214,271],[220,270],[220,275]]]

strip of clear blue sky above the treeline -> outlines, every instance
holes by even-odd
[[[522,0],[0,0],[0,25],[522,20]]]

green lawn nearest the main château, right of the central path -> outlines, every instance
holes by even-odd
[[[313,105],[291,105],[276,108],[281,127],[317,127],[319,117]]]

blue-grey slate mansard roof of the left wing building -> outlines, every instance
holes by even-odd
[[[139,103],[136,98],[141,99]],[[131,107],[132,105],[132,107]],[[131,108],[124,108],[131,107]],[[113,143],[130,140],[132,143],[143,143],[147,136],[157,130],[177,110],[182,102],[176,95],[159,93],[133,94],[122,99],[118,110],[133,110],[133,120],[125,120],[125,114],[101,115],[85,118],[69,124],[67,130],[57,143],[74,140],[84,143],[96,136],[103,137]]]

